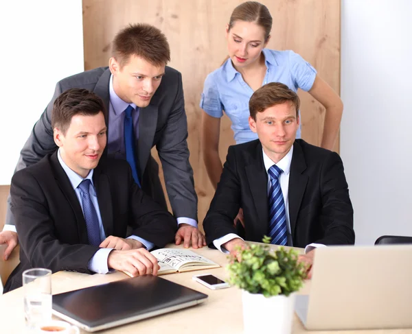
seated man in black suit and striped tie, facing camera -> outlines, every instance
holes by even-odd
[[[354,243],[342,160],[295,140],[299,104],[299,97],[277,82],[253,93],[249,126],[259,139],[229,147],[203,221],[209,246],[236,254],[236,246],[246,246],[244,239],[262,241],[268,235],[272,243],[306,248],[301,260],[310,264],[317,246]],[[244,223],[236,228],[239,208]]]

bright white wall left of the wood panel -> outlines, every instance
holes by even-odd
[[[3,1],[0,43],[0,184],[10,184],[56,82],[84,71],[82,0]]]

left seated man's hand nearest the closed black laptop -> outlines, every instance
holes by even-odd
[[[111,269],[128,272],[132,277],[157,275],[157,259],[144,248],[138,250],[112,250],[108,254],[107,266]]]

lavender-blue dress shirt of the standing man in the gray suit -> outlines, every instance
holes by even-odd
[[[108,133],[107,133],[107,150],[108,156],[116,159],[126,160],[126,149],[124,146],[124,110],[130,105],[135,109],[132,113],[133,131],[139,139],[139,115],[140,110],[135,104],[124,102],[113,88],[113,75],[111,75],[108,84],[108,93],[110,96],[110,104],[108,106]],[[195,219],[189,217],[178,217],[177,224],[189,224],[197,227]]]

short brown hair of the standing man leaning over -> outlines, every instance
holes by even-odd
[[[120,67],[127,64],[130,56],[162,66],[170,62],[170,47],[166,36],[157,27],[145,23],[131,24],[115,36],[112,56]]]

